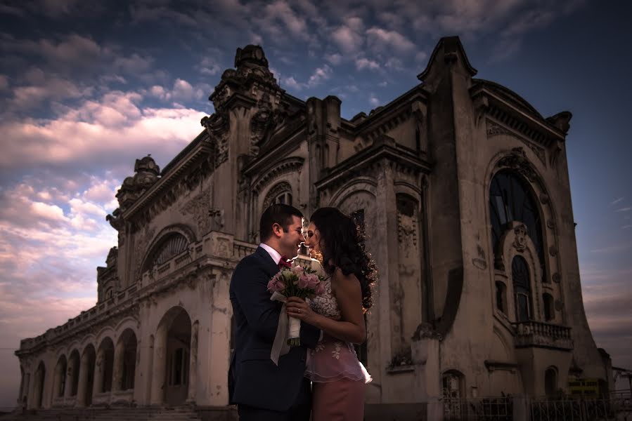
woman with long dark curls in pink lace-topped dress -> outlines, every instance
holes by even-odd
[[[364,312],[372,305],[375,265],[352,218],[336,208],[320,208],[311,215],[305,245],[329,276],[325,293],[309,304],[296,297],[287,302],[290,316],[323,331],[305,370],[312,381],[312,419],[361,421],[364,389],[371,377],[352,344],[366,340]]]

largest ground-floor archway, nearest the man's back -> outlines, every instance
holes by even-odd
[[[185,403],[190,361],[191,318],[182,307],[172,307],[156,331],[151,403]]]

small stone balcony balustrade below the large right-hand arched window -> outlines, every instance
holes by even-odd
[[[515,327],[515,346],[573,349],[571,328],[541,321],[512,323]]]

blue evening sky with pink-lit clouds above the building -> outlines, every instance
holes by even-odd
[[[570,110],[569,171],[588,321],[632,368],[632,31],[628,1],[16,0],[0,2],[0,406],[19,339],[96,302],[116,243],[105,215],[152,154],[162,167],[212,114],[238,46],[261,44],[299,98],[351,118],[418,83],[441,36],[478,76],[545,115]]]

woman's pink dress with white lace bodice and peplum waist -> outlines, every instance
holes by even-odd
[[[318,314],[333,320],[341,319],[329,279],[325,281],[325,293],[311,300],[310,305]],[[364,389],[371,377],[358,361],[352,344],[324,334],[311,350],[305,376],[312,381],[314,389],[314,421],[363,420]]]

